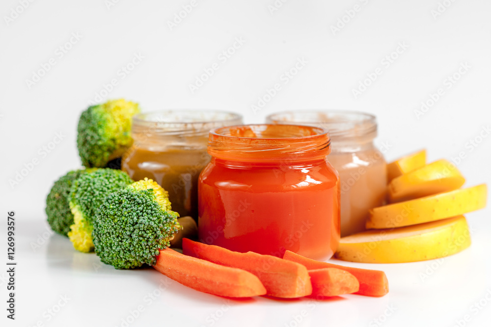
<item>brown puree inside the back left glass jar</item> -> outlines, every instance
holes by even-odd
[[[206,149],[156,151],[134,147],[123,158],[121,169],[133,180],[155,180],[169,192],[173,211],[197,221],[198,176],[209,161]]]

